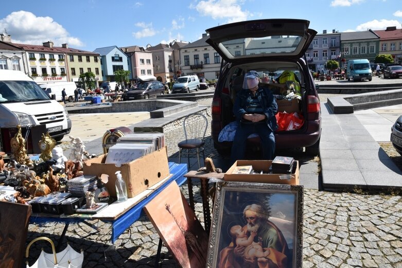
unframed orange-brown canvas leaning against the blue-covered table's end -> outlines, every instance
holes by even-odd
[[[208,236],[176,182],[155,196],[144,210],[182,267],[205,267]]]

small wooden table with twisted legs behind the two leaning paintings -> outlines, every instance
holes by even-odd
[[[194,208],[194,195],[193,195],[193,178],[199,178],[201,181],[200,195],[202,198],[202,210],[204,214],[204,226],[205,231],[209,234],[209,229],[211,228],[211,211],[209,210],[209,199],[208,199],[208,181],[209,177],[219,178],[223,180],[223,175],[225,173],[215,173],[215,172],[199,172],[199,171],[189,171],[184,177],[187,178],[188,185],[188,199],[190,201],[190,207]]]

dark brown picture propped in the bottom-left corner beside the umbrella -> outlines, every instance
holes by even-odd
[[[20,268],[31,206],[0,201],[0,268]]]

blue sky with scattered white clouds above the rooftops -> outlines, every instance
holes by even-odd
[[[281,5],[278,5],[281,3]],[[322,33],[333,29],[361,31],[401,28],[401,0],[71,0],[4,1],[0,32],[6,28],[15,43],[42,44],[93,51],[99,47],[152,46],[194,42],[205,29],[256,19],[310,21]]]

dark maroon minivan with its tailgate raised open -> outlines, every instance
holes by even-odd
[[[276,148],[305,147],[307,153],[317,155],[321,136],[320,100],[305,56],[317,31],[309,29],[309,23],[293,19],[255,20],[206,30],[209,33],[206,42],[223,60],[211,106],[211,135],[219,153],[227,154],[232,147],[231,141],[219,141],[219,134],[235,120],[233,103],[242,88],[244,73],[256,70],[260,76],[263,73],[276,76],[287,70],[300,81],[302,94],[299,104],[304,123],[296,130],[276,131]],[[239,46],[247,44],[243,47],[246,55],[235,53],[233,47],[237,43]],[[265,85],[275,90],[274,86]],[[249,143],[258,147],[259,137],[253,139],[249,138]]]

